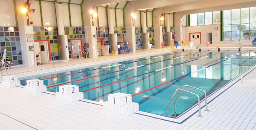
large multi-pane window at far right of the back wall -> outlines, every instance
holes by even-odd
[[[256,7],[223,10],[223,40],[256,38]]]

